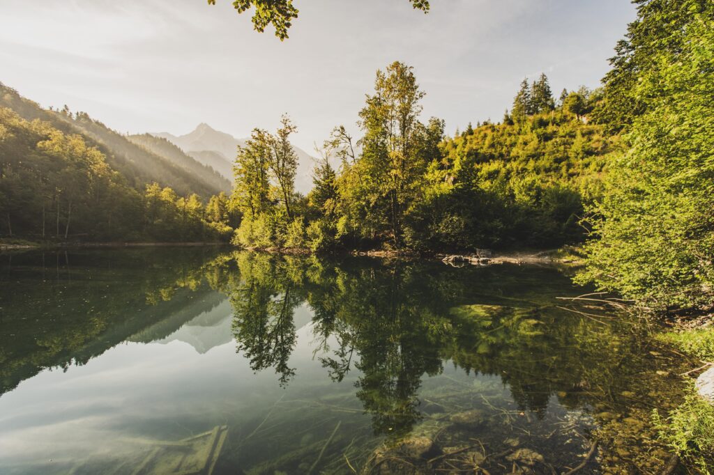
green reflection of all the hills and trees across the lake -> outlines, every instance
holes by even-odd
[[[204,353],[231,338],[253,371],[273,369],[286,387],[299,377],[303,305],[315,358],[334,382],[354,372],[376,434],[411,431],[423,379],[447,364],[500,377],[521,410],[543,416],[553,395],[580,407],[616,391],[620,362],[635,354],[615,324],[558,309],[555,297],[578,290],[550,268],[193,249],[3,258],[2,393],[124,341],[181,340]]]

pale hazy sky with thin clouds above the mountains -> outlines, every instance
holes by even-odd
[[[311,151],[354,128],[374,73],[414,67],[424,114],[452,133],[500,120],[524,76],[553,91],[598,86],[635,10],[627,0],[294,0],[290,39],[253,31],[229,0],[0,0],[0,81],[121,132],[238,138],[281,113]]]

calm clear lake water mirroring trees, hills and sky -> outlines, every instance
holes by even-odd
[[[675,404],[662,369],[678,361],[638,322],[559,299],[588,290],[555,267],[193,248],[0,262],[2,474],[648,473],[667,457],[648,419]]]

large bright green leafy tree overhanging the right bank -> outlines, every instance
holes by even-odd
[[[660,47],[643,25],[681,20],[683,4],[687,21]],[[610,165],[591,209],[595,240],[579,276],[659,310],[714,302],[714,4],[700,6],[640,5],[629,40],[649,51],[651,67],[628,92],[640,108],[625,137],[630,149]]]

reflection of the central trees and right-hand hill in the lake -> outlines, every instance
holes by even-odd
[[[555,297],[575,290],[554,269],[234,257],[241,278],[228,293],[238,351],[254,370],[273,367],[288,384],[293,312],[307,302],[319,360],[336,382],[358,371],[356,395],[376,434],[412,430],[423,377],[441,374],[447,361],[498,375],[521,409],[543,417],[553,394],[567,393],[563,403],[578,407],[616,385],[617,361],[633,351],[611,326],[555,306]],[[603,358],[613,352],[620,356]]]

